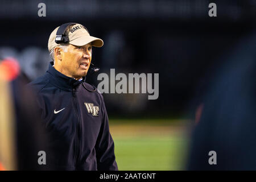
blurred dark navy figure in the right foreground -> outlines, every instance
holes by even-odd
[[[210,82],[192,135],[189,170],[256,170],[255,43],[256,34],[241,42]]]

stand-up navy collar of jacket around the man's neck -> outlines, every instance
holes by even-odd
[[[72,90],[85,81],[85,77],[82,77],[82,80],[79,81],[63,75],[53,67],[53,61],[49,63],[47,72],[51,75],[51,83],[65,90]]]

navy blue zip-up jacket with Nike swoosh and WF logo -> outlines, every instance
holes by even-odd
[[[65,76],[52,64],[28,84],[36,92],[50,138],[46,165],[57,170],[118,170],[101,93],[85,78]]]

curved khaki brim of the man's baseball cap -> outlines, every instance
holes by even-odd
[[[69,41],[69,44],[72,44],[73,46],[84,46],[89,43],[92,43],[92,46],[94,47],[102,47],[104,44],[103,40],[94,38],[94,36],[81,36]]]

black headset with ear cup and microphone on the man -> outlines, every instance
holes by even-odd
[[[65,32],[67,30],[67,28],[69,26],[71,26],[72,24],[78,24],[78,23],[64,23],[64,24],[61,24],[61,26],[58,28],[57,32],[56,32],[56,38],[55,38],[55,42],[57,44],[67,44],[69,43],[69,38],[67,35],[65,35]],[[87,30],[87,28],[84,26],[85,30]],[[88,31],[89,33],[89,31]],[[96,68],[94,67],[94,64],[90,63],[93,67],[90,68],[90,73],[96,73],[100,70],[100,68]]]

